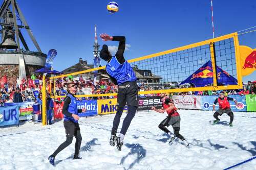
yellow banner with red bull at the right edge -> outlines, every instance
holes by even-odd
[[[242,76],[251,74],[256,70],[256,48],[240,45],[240,58]]]

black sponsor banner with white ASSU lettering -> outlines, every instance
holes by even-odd
[[[139,107],[137,110],[151,110],[153,106],[157,109],[160,109],[162,107],[160,96],[139,98]]]

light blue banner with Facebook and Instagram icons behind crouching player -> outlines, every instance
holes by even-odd
[[[232,111],[246,111],[247,106],[245,102],[245,96],[244,95],[228,95],[229,98],[234,98],[238,102],[238,106],[234,104],[233,101],[229,101],[230,108]],[[203,110],[212,110],[212,104],[214,101],[219,98],[219,95],[204,95],[201,98],[202,103],[202,109]],[[219,109],[219,104],[216,104],[215,110]]]

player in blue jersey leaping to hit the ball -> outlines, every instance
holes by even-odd
[[[101,34],[103,41],[119,41],[118,50],[115,56],[112,56],[108,50],[107,45],[102,46],[100,51],[100,58],[108,62],[106,64],[106,72],[114,84],[118,85],[117,92],[117,112],[113,121],[113,128],[111,131],[110,145],[115,145],[121,151],[123,139],[127,129],[129,128],[133,117],[138,108],[138,86],[135,72],[131,65],[125,61],[123,53],[125,50],[124,36],[109,36],[108,34]],[[125,104],[127,103],[128,111],[123,120],[123,125],[119,135],[116,135],[119,126],[120,118],[123,113]]]

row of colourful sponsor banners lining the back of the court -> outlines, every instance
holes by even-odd
[[[232,111],[256,111],[256,95],[229,95],[238,102],[238,106],[234,105],[234,102],[230,101]],[[212,104],[218,95],[173,95],[175,106],[181,109],[200,109],[200,110],[212,110]],[[160,96],[148,96],[145,98],[139,98],[138,110],[151,110],[151,107],[161,108]],[[63,103],[54,102],[54,119],[63,118],[62,114]],[[77,101],[77,108],[86,108],[86,113],[79,113],[80,117],[102,115],[116,113],[117,111],[117,99],[102,99],[102,100],[82,100]],[[219,109],[218,104],[216,110]],[[127,106],[124,107],[124,112],[127,111]],[[24,115],[32,115],[32,113],[38,114],[38,104],[34,102],[24,103],[5,103],[4,107],[0,107],[0,126],[15,125],[18,124],[21,117]]]

